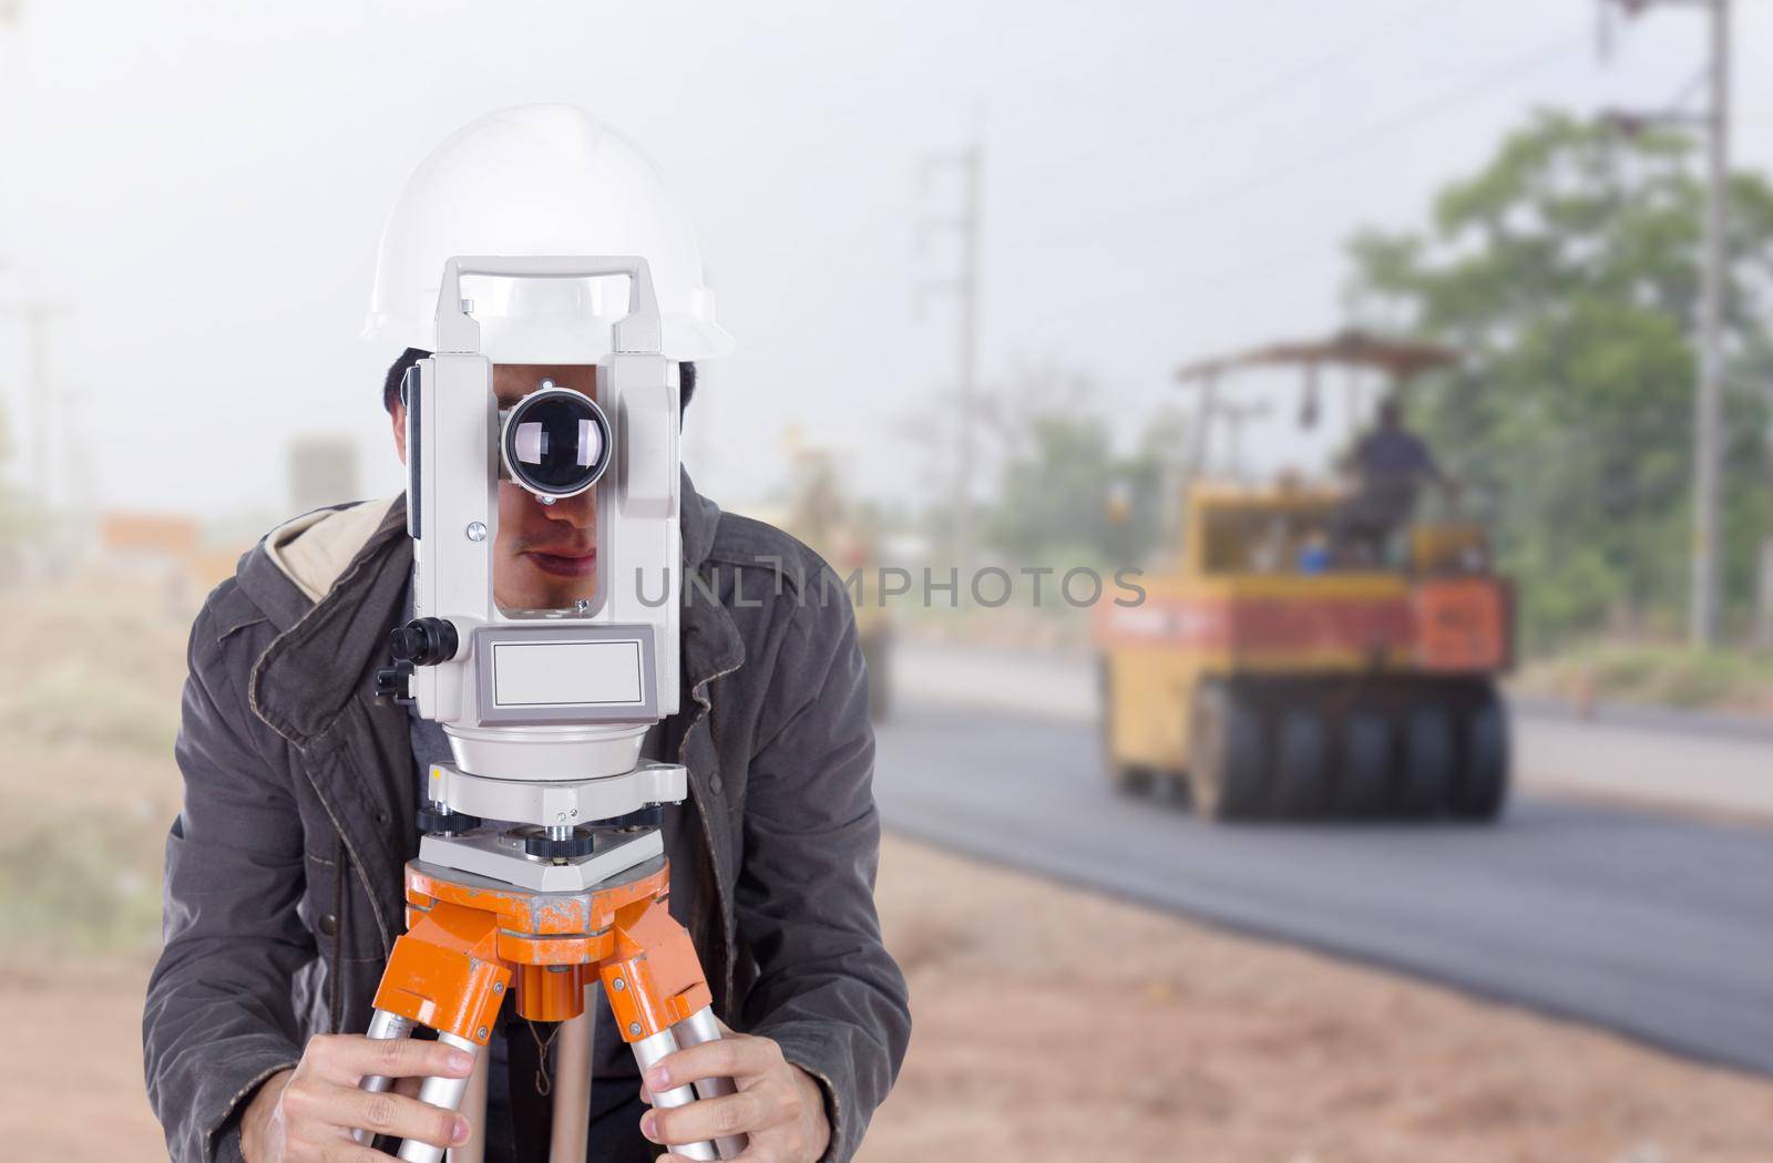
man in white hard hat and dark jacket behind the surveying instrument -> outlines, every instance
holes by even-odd
[[[525,181],[525,156],[550,188]],[[576,179],[601,200],[574,188]],[[676,330],[667,314],[667,355],[695,351],[683,339],[693,332],[683,324],[691,310],[706,316],[700,333],[718,333],[706,294],[674,289],[674,262],[676,284],[699,284],[700,262],[691,269],[683,261],[684,246],[695,257],[693,239],[661,238],[660,220],[647,218],[663,197],[656,174],[578,110],[505,110],[445,142],[385,232],[378,307],[404,277],[399,262],[390,273],[388,257],[401,255],[402,213],[426,183],[420,195],[441,190],[450,213],[465,207],[479,218],[488,183],[493,195],[505,183],[525,215],[491,215],[498,229],[518,222],[534,232],[544,222],[569,236],[470,238],[445,223],[441,239],[408,246],[413,269],[441,269],[447,254],[642,254],[661,310],[672,300],[681,307]],[[562,206],[537,209],[537,191]],[[589,230],[585,206],[605,207]],[[434,230],[440,213],[429,204],[406,218]],[[434,301],[434,277],[429,293]],[[596,316],[596,303],[574,294]],[[528,328],[535,303],[516,307],[511,326]],[[543,378],[594,390],[583,358],[500,362],[496,303],[479,314],[488,316],[484,349],[500,404]],[[424,355],[408,347],[383,386],[402,459],[397,386]],[[681,374],[688,406],[693,363],[683,362]],[[651,1158],[654,1145],[743,1131],[746,1158],[759,1161],[849,1159],[910,1034],[904,980],[881,945],[872,902],[879,826],[855,624],[847,603],[823,601],[824,589],[840,587],[824,585],[824,566],[805,546],[722,514],[688,475],[681,493],[684,578],[699,580],[686,583],[683,610],[684,709],[649,734],[645,753],[688,768],[691,798],[663,819],[670,909],[695,938],[716,1012],[739,1034],[679,1051],[640,1080],[610,1023],[599,1023],[590,1158],[626,1163]],[[590,496],[541,505],[500,482],[493,582],[502,606],[562,606],[592,592]],[[434,723],[372,690],[388,631],[411,608],[404,519],[401,496],[273,530],[191,629],[177,743],[186,794],[167,846],[167,945],[144,1018],[149,1097],[179,1163],[385,1158],[356,1145],[353,1128],[434,1145],[477,1129],[489,1159],[544,1158],[553,1035],[544,1023],[505,1014],[488,1055],[486,1128],[418,1103],[410,1085],[385,1096],[356,1089],[365,1074],[466,1069],[438,1042],[362,1035],[401,931],[401,869],[418,846],[418,773],[445,750]],[[718,1074],[732,1076],[738,1094],[645,1110],[649,1089]]]

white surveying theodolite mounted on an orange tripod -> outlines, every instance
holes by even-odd
[[[500,408],[463,277],[624,278],[628,314],[594,388],[539,379]],[[436,353],[402,386],[415,617],[394,631],[394,665],[378,686],[443,727],[452,762],[426,773],[408,931],[369,1034],[429,1028],[484,1058],[507,998],[523,1018],[566,1023],[557,1161],[585,1158],[587,986],[601,984],[642,1073],[722,1032],[690,936],[667,911],[654,808],[684,800],[686,775],[642,759],[647,729],[677,711],[681,686],[679,378],[660,349],[645,259],[456,257],[438,294]],[[589,596],[566,608],[500,608],[502,482],[544,505],[594,491]],[[450,1110],[484,1103],[484,1074],[480,1062],[470,1080],[427,1078],[418,1097]],[[363,1080],[369,1090],[388,1085]],[[651,1097],[681,1106],[730,1090],[730,1080],[706,1080]],[[472,1122],[479,1138],[480,1119]],[[695,1159],[743,1149],[743,1136],[672,1147]],[[440,1156],[413,1140],[399,1147],[402,1159]],[[477,1161],[477,1143],[450,1149],[450,1159]]]

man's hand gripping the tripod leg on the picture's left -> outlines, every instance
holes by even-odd
[[[353,1129],[417,1138],[434,1147],[468,1142],[468,1119],[394,1090],[360,1090],[365,1074],[466,1078],[473,1058],[441,1042],[362,1034],[309,1041],[296,1069],[273,1074],[241,1115],[246,1163],[387,1163],[351,1138]]]

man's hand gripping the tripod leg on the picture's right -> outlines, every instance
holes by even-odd
[[[734,1081],[738,1094],[649,1110],[640,1119],[640,1133],[665,1145],[750,1135],[745,1158],[755,1163],[814,1163],[824,1154],[832,1142],[824,1092],[812,1074],[789,1065],[782,1048],[768,1037],[723,1032],[720,1041],[665,1055],[644,1081],[647,1094],[656,1094],[722,1076]],[[686,1163],[683,1156],[667,1158]]]

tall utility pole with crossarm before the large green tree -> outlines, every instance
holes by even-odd
[[[1608,121],[1626,131],[1647,126],[1695,128],[1706,138],[1706,230],[1699,291],[1699,365],[1693,395],[1693,558],[1688,605],[1688,638],[1693,645],[1716,645],[1720,631],[1723,535],[1723,289],[1729,255],[1729,172],[1730,172],[1730,0],[1601,0],[1603,53],[1608,48],[1606,4],[1626,16],[1640,16],[1651,7],[1704,7],[1711,16],[1706,67],[1706,108],[1688,113],[1679,108],[1658,113],[1610,113]]]

